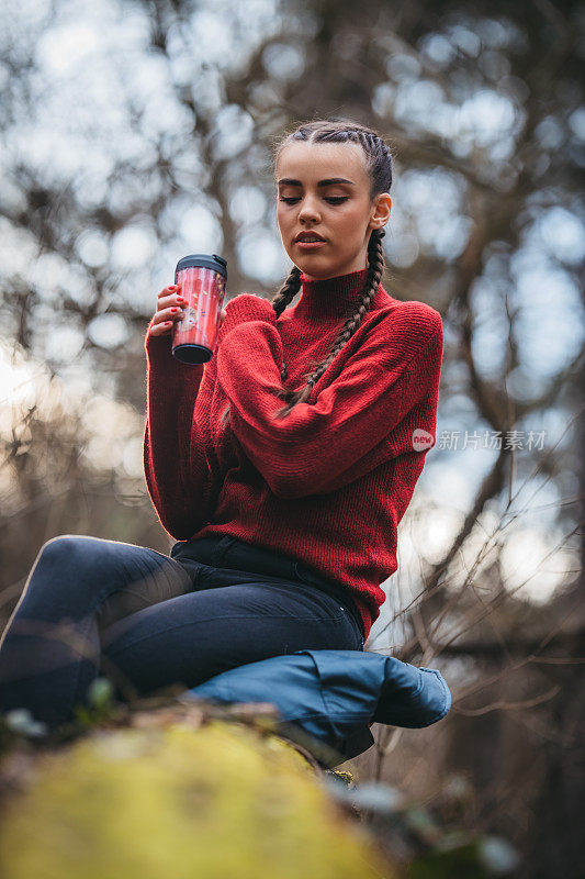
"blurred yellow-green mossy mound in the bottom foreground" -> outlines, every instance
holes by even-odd
[[[5,805],[0,852],[4,879],[390,876],[294,748],[220,721],[43,755]]]

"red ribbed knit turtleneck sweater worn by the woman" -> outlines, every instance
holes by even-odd
[[[384,601],[380,583],[397,568],[398,522],[435,445],[440,314],[380,286],[308,402],[274,421],[283,402],[269,392],[283,359],[286,386],[304,385],[365,274],[302,277],[301,298],[278,320],[267,299],[237,296],[201,366],[172,357],[169,335],[147,332],[144,466],[175,539],[232,535],[304,563],[349,590],[367,638]]]

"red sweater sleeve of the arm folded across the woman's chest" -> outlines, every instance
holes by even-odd
[[[297,403],[282,420],[273,418],[283,407],[273,393],[283,359],[277,327],[261,321],[234,327],[217,352],[217,377],[232,429],[271,491],[301,498],[340,488],[368,471],[368,461],[413,452],[412,432],[400,442],[393,432],[438,391],[442,343],[440,314],[403,303],[397,316],[389,312],[372,327],[315,403]]]

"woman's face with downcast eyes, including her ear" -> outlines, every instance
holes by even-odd
[[[294,141],[277,162],[277,222],[286,254],[308,279],[367,267],[372,229],[385,225],[392,199],[370,200],[365,156],[358,144]],[[318,243],[303,244],[314,232]]]

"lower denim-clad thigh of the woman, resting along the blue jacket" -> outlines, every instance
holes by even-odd
[[[333,596],[275,577],[196,564],[195,591],[138,611],[102,633],[104,674],[114,683],[120,678],[148,694],[169,683],[195,687],[229,668],[296,650],[361,649],[356,623]]]

